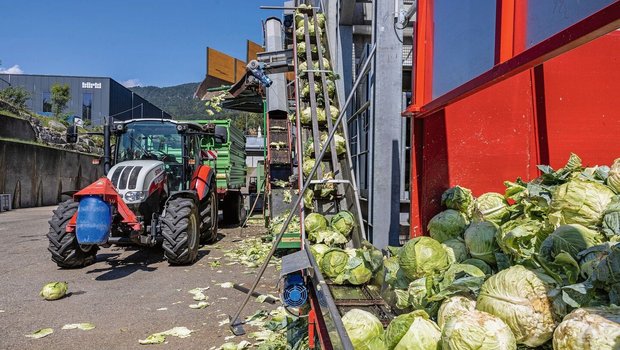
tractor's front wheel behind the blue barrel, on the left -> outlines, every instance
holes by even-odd
[[[52,261],[58,267],[84,267],[94,263],[96,259],[98,246],[80,245],[75,233],[66,231],[67,224],[77,212],[78,205],[79,203],[73,199],[60,203],[49,221],[50,230],[47,238],[50,244],[47,250],[52,253]]]

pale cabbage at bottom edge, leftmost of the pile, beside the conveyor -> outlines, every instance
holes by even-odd
[[[342,316],[342,323],[355,350],[381,350],[383,325],[368,311],[351,309]]]

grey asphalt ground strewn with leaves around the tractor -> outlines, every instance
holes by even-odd
[[[53,209],[0,213],[0,349],[215,349],[227,341],[252,341],[233,338],[228,324],[220,325],[245,294],[218,283],[251,285],[258,269],[232,264],[234,259],[224,252],[261,236],[264,227],[220,228],[220,240],[203,246],[191,266],[169,266],[158,248],[112,246],[99,250],[93,265],[60,269],[47,251],[47,221]],[[277,295],[277,274],[269,267],[259,291]],[[55,301],[42,299],[39,292],[50,281],[66,281],[70,294]],[[210,305],[204,309],[189,308],[196,301],[188,291],[197,287],[209,287],[204,294]],[[242,315],[276,306],[252,298]],[[81,322],[96,328],[61,329]],[[159,345],[138,343],[176,326],[194,332],[188,338],[167,337]],[[25,336],[41,328],[54,333],[40,339]]]

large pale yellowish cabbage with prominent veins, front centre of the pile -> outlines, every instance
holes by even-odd
[[[482,284],[476,309],[502,319],[518,344],[540,346],[551,339],[556,326],[547,296],[553,283],[547,275],[512,266]]]

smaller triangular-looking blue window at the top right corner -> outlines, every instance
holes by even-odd
[[[616,0],[530,0],[527,2],[527,41],[530,48],[581,21]]]

